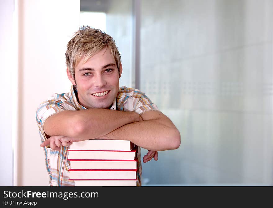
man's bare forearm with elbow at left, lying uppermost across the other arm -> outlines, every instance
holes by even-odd
[[[48,136],[62,135],[73,137],[75,141],[83,141],[100,137],[123,125],[141,120],[135,112],[109,109],[66,110],[48,117],[43,124],[43,130]]]

